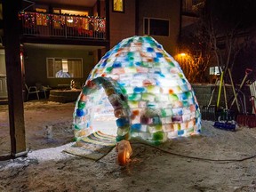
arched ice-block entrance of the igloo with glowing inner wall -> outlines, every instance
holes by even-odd
[[[112,106],[112,111],[109,104]],[[92,124],[95,113],[108,114],[109,112],[112,112],[117,118],[116,141],[128,139],[131,112],[122,87],[110,77],[99,76],[88,81],[76,101],[74,112],[75,140],[80,140],[82,137],[97,131]]]

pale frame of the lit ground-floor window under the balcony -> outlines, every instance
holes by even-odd
[[[49,76],[49,65],[48,65],[48,60],[53,60],[53,76]],[[70,77],[56,77],[56,71],[55,71],[55,60],[81,60],[81,76],[70,76]],[[75,78],[84,78],[84,62],[83,58],[61,58],[61,57],[46,57],[46,75],[47,78],[50,79],[63,79],[63,78],[68,78],[68,79],[75,79]],[[58,72],[58,71],[57,71]]]

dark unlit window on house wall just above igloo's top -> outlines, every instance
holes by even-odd
[[[144,18],[144,35],[169,36],[169,21],[170,20]]]

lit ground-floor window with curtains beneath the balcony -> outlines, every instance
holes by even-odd
[[[48,78],[83,78],[82,58],[46,58]]]

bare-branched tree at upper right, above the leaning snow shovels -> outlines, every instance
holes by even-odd
[[[202,28],[208,35],[217,65],[226,72],[234,67],[237,53],[247,44],[255,16],[253,0],[207,0]]]

